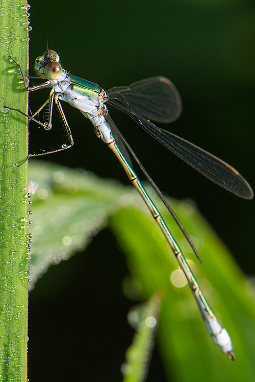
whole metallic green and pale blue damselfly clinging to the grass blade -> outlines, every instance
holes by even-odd
[[[235,195],[244,199],[251,199],[253,197],[253,192],[248,182],[237,170],[223,160],[192,143],[177,137],[177,135],[174,135],[171,132],[158,128],[150,122],[151,119],[161,123],[170,123],[179,118],[182,112],[180,94],[169,79],[162,76],[151,77],[137,81],[129,86],[114,87],[105,92],[97,84],[67,72],[61,67],[58,54],[54,50],[46,50],[43,55],[38,57],[35,61],[36,73],[42,79],[46,79],[46,82],[30,87],[29,80],[25,77],[20,64],[13,58],[12,60],[19,66],[24,86],[29,92],[44,88],[50,88],[51,90],[47,100],[33,115],[27,115],[17,108],[5,107],[23,114],[40,126],[43,126],[46,130],[49,130],[52,128],[53,105],[55,102],[64,122],[69,140],[68,144],[62,145],[56,150],[39,154],[29,154],[28,158],[22,163],[33,156],[46,155],[48,153],[55,153],[70,148],[73,145],[73,138],[60,101],[66,101],[73,107],[78,108],[82,114],[92,122],[97,137],[103,140],[103,142],[105,142],[117,156],[127,176],[137,188],[150,213],[161,228],[173,254],[187,278],[202,319],[214,342],[219,345],[220,349],[227,354],[231,360],[235,360],[230,336],[219,319],[215,316],[179,248],[179,245],[174,240],[157,207],[146,193],[141,181],[133,170],[129,153],[138,163],[147,180],[155,188],[156,192],[173,216],[175,222],[181,228],[194,253],[199,258],[194,244],[171,206],[164,198],[159,187],[151,179],[131,146],[127,143],[122,133],[111,119],[106,104],[108,103],[129,115],[148,134],[183,159],[188,165]],[[46,122],[40,122],[35,117],[45,106],[49,107],[48,118]]]

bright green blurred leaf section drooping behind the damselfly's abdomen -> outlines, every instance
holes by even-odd
[[[174,375],[174,380],[180,382],[253,381],[254,288],[194,206],[176,201],[171,201],[171,205],[194,240],[202,265],[194,259],[171,219],[166,221],[202,291],[230,334],[237,360],[231,362],[214,345],[189,287],[178,286],[182,284],[179,267],[150,216],[142,216],[135,208],[120,210],[111,216],[110,222],[126,254],[135,285],[140,286],[144,299],[157,290],[164,295],[158,340],[169,380]]]

